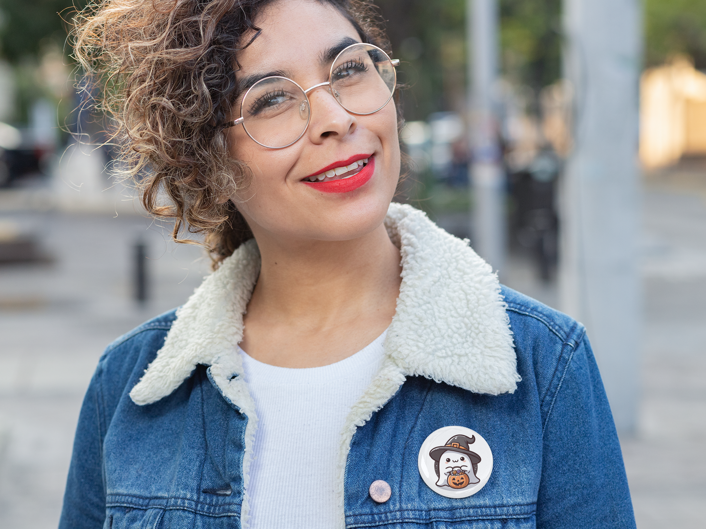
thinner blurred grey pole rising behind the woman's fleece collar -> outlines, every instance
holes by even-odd
[[[496,0],[466,0],[466,35],[473,246],[493,269],[501,270],[505,263],[505,174],[493,108],[498,79]]]

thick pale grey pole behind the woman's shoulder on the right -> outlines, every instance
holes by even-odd
[[[618,431],[635,431],[640,0],[565,0],[573,152],[561,189],[561,309],[587,328]]]

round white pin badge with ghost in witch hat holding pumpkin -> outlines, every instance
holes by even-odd
[[[490,479],[493,453],[475,430],[445,426],[424,439],[417,465],[421,479],[433,492],[447,498],[466,498]]]

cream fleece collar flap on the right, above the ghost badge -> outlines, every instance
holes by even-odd
[[[392,205],[385,225],[402,253],[400,297],[385,343],[390,358],[405,375],[474,393],[515,391],[510,320],[490,265],[411,206]]]

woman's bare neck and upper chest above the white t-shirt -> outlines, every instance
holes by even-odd
[[[292,242],[258,233],[256,240],[262,267],[241,341],[253,358],[326,365],[359,351],[392,321],[402,267],[382,224],[351,241]]]

